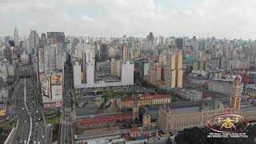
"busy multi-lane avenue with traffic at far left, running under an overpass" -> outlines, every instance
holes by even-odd
[[[30,66],[23,66],[19,71],[30,70]],[[46,123],[42,108],[38,103],[36,83],[33,75],[19,78],[14,88],[15,110],[18,122],[12,142],[14,144],[45,144]]]

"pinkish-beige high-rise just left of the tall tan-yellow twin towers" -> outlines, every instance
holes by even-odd
[[[147,82],[157,86],[158,82],[161,80],[161,69],[162,67],[157,63],[152,63],[147,74]]]

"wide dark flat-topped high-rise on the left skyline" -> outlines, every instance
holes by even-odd
[[[50,43],[62,43],[65,46],[65,34],[64,32],[47,32],[47,38],[50,39]]]

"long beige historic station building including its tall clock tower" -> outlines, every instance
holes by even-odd
[[[171,109],[163,106],[159,109],[158,127],[163,131],[183,130],[193,126],[207,126],[209,118],[225,114],[226,110],[247,118],[249,121],[256,118],[256,106],[241,106],[242,84],[241,78],[235,78],[230,94],[230,103],[214,102],[201,106],[180,107]]]

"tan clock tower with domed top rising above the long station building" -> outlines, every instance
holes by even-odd
[[[242,83],[241,78],[236,76],[231,88],[230,94],[230,108],[234,113],[239,113],[241,104],[241,94],[242,94]]]

